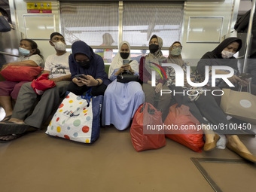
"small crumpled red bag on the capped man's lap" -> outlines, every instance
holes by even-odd
[[[33,90],[35,90],[35,93],[37,93],[38,95],[42,95],[44,93],[44,90],[56,86],[54,81],[48,79],[48,76],[49,74],[45,73],[41,75],[39,78],[33,80],[31,87],[33,88]]]

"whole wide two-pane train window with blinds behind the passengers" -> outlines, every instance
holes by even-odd
[[[163,50],[180,41],[183,6],[165,2],[60,2],[62,33],[68,45],[85,41],[105,63],[111,63],[119,41],[128,41],[131,58],[139,60],[145,54],[140,49],[148,50],[152,35],[163,38]]]

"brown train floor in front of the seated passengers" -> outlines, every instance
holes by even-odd
[[[136,152],[130,129],[102,127],[89,145],[45,130],[0,143],[0,191],[256,191],[256,163],[227,148],[197,153],[166,139],[163,148]],[[256,155],[256,138],[239,137]]]

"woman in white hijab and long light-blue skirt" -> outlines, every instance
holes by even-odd
[[[124,59],[129,60],[130,63],[123,66]],[[138,82],[117,82],[117,75],[126,71],[139,75],[139,63],[130,60],[130,44],[123,41],[109,67],[108,75],[113,82],[105,90],[102,107],[103,126],[113,124],[117,130],[125,130],[139,105],[145,102],[142,86]]]

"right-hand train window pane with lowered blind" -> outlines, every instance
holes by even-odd
[[[123,39],[131,46],[148,45],[152,35],[163,39],[163,47],[180,41],[183,4],[123,2]]]

